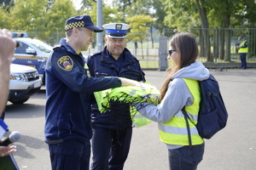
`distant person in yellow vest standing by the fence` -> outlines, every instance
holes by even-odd
[[[240,69],[247,69],[247,53],[248,53],[248,43],[245,37],[241,37],[241,43],[239,46],[236,46],[238,48],[238,53],[240,54],[241,59],[241,67]]]

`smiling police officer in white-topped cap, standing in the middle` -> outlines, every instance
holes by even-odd
[[[92,77],[125,77],[145,81],[137,58],[125,48],[126,31],[129,25],[111,23],[103,25],[106,29],[107,46],[89,55],[87,65]],[[121,170],[124,167],[131,144],[130,106],[121,104],[117,117],[113,111],[100,113],[95,104],[92,110],[92,164],[91,170]]]

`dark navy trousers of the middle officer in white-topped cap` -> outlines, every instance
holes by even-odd
[[[91,170],[122,170],[131,144],[132,127],[92,127]]]

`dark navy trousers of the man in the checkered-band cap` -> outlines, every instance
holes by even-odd
[[[49,155],[53,170],[89,170],[90,141],[83,144],[67,140],[60,144],[49,144]]]

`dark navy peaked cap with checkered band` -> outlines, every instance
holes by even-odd
[[[75,27],[85,27],[95,32],[103,31],[101,28],[93,25],[89,15],[78,15],[66,20],[65,31],[71,30]]]

